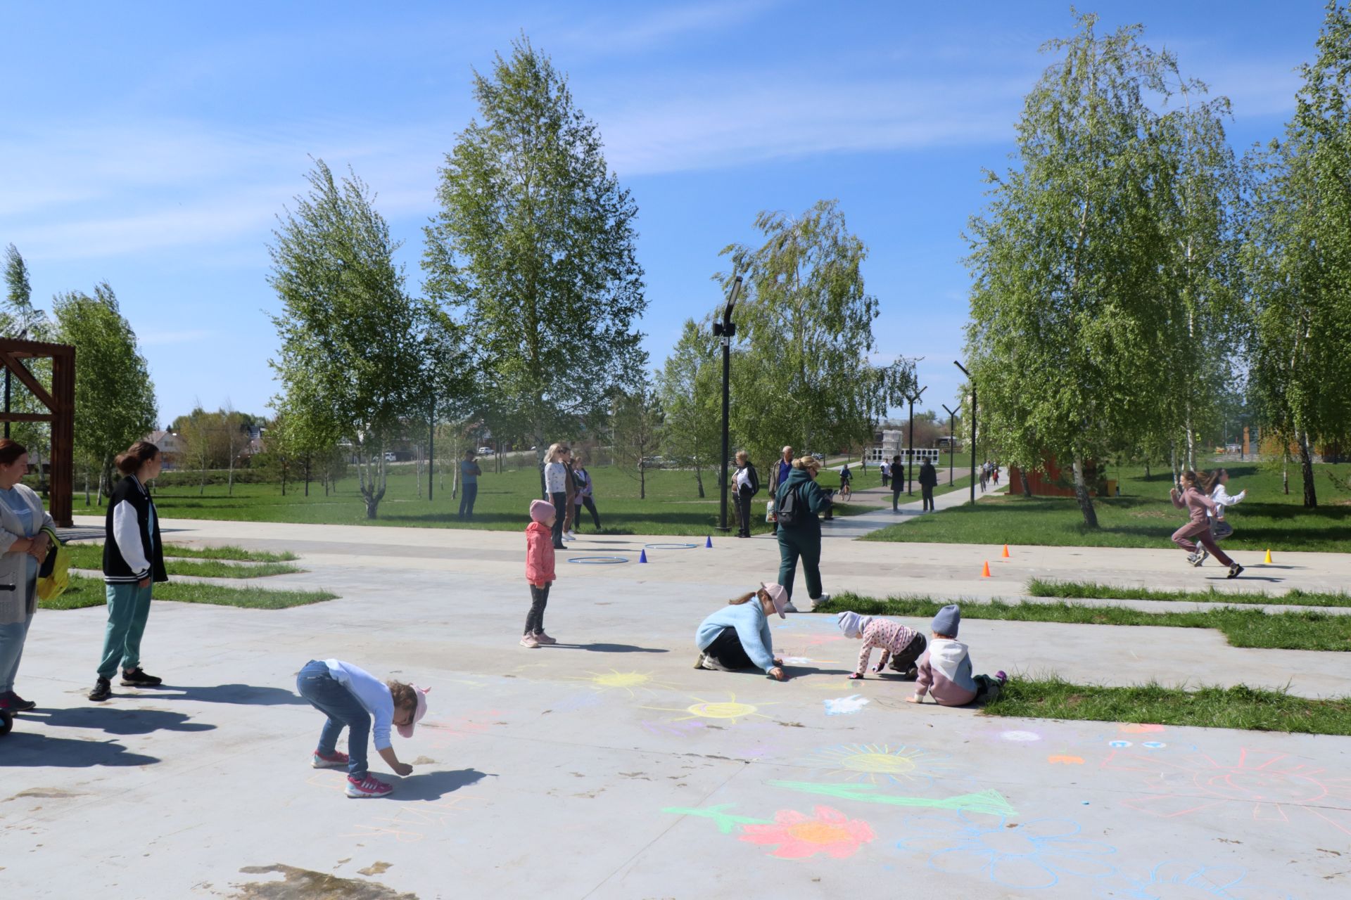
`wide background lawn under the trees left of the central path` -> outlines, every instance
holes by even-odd
[[[639,483],[623,471],[612,467],[589,468],[596,484],[596,506],[600,510],[601,525],[612,534],[717,534],[717,483],[712,474],[704,475],[705,497],[700,499],[692,471],[657,470],[647,474],[647,497],[639,499]],[[767,484],[767,471],[761,470],[761,478]],[[834,487],[839,482],[834,472],[821,474],[821,484]],[[426,478],[423,479],[426,491]],[[474,521],[461,522],[457,518],[459,499],[450,495],[450,479],[444,488],[439,482],[435,499],[419,499],[417,482],[411,470],[400,467],[389,475],[389,490],[380,503],[380,517],[366,518],[365,503],[361,499],[355,476],[339,482],[338,490],[324,497],[317,483],[309,486],[309,497],[304,497],[297,484],[290,484],[285,497],[277,484],[236,484],[234,497],[226,494],[224,486],[208,484],[205,494],[196,487],[157,487],[155,506],[161,517],[234,519],[249,522],[301,522],[324,525],[404,525],[415,528],[478,528],[492,530],[524,530],[530,524],[530,502],[539,497],[539,474],[534,468],[507,468],[501,474],[484,467],[478,479],[478,501],[474,506]],[[765,533],[770,525],[765,522],[765,502],[769,491],[762,490],[755,498],[753,511],[753,532]],[[867,511],[858,503],[843,503],[836,507],[836,515],[851,515]],[[84,494],[74,499],[74,513],[88,514],[99,510],[84,505]],[[736,526],[735,507],[728,499],[728,525]],[[578,530],[593,532],[590,515],[581,510]]]

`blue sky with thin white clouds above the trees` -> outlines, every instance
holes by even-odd
[[[717,251],[761,209],[834,197],[869,246],[877,355],[923,356],[952,405],[961,237],[1002,167],[1069,3],[8,3],[0,30],[0,246],[35,302],[107,279],[168,421],[266,413],[274,216],[309,155],[351,165],[417,290],[436,169],[474,115],[470,72],[520,34],[566,72],[639,205],[653,363],[719,302]],[[1238,148],[1275,136],[1321,0],[1081,3],[1140,22],[1233,103]],[[580,372],[580,376],[584,376]]]

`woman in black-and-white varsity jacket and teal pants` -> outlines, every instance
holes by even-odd
[[[159,519],[146,482],[159,475],[159,448],[136,441],[116,460],[123,478],[112,488],[104,521],[103,580],[108,591],[108,630],[103,638],[99,680],[91,700],[107,700],[112,676],[122,668],[126,687],[153,688],[161,679],[141,668],[141,636],[150,617],[150,586],[168,582]]]

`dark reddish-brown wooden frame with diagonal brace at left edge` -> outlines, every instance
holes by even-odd
[[[51,390],[42,386],[24,359],[51,360]],[[0,422],[51,422],[51,518],[61,528],[70,528],[70,494],[74,490],[76,443],[76,348],[69,344],[46,344],[36,340],[0,337],[0,364],[38,398],[46,413],[5,413]]]

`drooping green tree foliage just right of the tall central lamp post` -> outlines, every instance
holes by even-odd
[[[765,243],[725,247],[731,273],[719,275],[725,289],[739,273],[746,287],[732,358],[738,445],[765,464],[784,444],[832,452],[871,440],[880,406],[913,385],[913,370],[901,360],[884,376],[867,363],[878,304],[863,287],[863,242],[827,200],[798,217],[762,212],[755,228]]]

